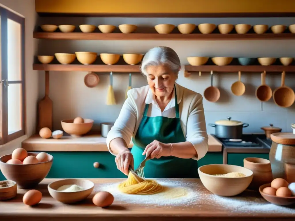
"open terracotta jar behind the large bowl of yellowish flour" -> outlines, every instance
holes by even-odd
[[[257,190],[263,184],[271,183],[271,161],[263,158],[248,157],[244,159],[244,167],[253,171],[253,179],[248,189]]]

